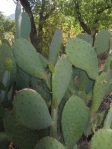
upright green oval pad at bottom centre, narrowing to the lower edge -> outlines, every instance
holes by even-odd
[[[73,147],[80,139],[88,124],[88,108],[83,99],[72,96],[64,106],[62,113],[62,131],[65,144]]]

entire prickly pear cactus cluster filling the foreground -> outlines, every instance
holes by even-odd
[[[0,149],[10,142],[19,149],[111,149],[112,107],[99,112],[112,91],[111,33],[100,31],[94,46],[91,35],[80,34],[63,52],[56,30],[47,59],[31,44],[30,30],[18,3],[15,42],[0,47]]]

